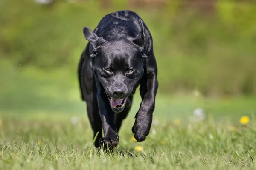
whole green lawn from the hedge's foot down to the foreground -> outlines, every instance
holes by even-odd
[[[255,169],[255,101],[158,96],[151,133],[136,142],[131,132],[136,98],[113,155],[93,147],[81,102],[70,113],[2,110],[0,169]],[[69,112],[72,105],[66,107]],[[191,121],[196,108],[204,109],[204,120]],[[241,116],[249,117],[246,125],[239,123]]]

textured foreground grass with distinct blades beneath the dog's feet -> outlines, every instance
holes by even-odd
[[[61,117],[61,115],[59,115]],[[3,118],[1,169],[244,169],[255,168],[256,121],[246,125],[207,117],[198,122],[154,119],[144,142],[125,120],[114,154],[98,152],[87,119]],[[237,120],[239,122],[239,119]],[[154,130],[154,133],[152,133]]]

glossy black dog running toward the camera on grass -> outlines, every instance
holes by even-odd
[[[116,147],[117,133],[139,85],[142,102],[132,132],[137,141],[145,140],[158,88],[157,63],[147,26],[136,13],[118,11],[103,17],[94,31],[84,27],[83,33],[89,43],[81,55],[78,76],[94,137],[99,132],[95,147]]]

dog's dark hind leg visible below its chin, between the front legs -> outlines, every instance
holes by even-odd
[[[116,128],[117,128],[118,132],[122,125],[122,121],[127,117],[128,113],[131,109],[132,100],[133,100],[133,95],[128,96],[124,110],[120,113],[116,113],[116,121],[115,122],[116,122]]]

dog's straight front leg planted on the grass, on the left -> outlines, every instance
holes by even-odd
[[[117,129],[115,125],[115,113],[112,111],[111,106],[108,101],[108,96],[105,93],[103,87],[97,85],[97,101],[99,105],[99,113],[102,120],[102,127],[104,137],[99,139],[99,146],[102,147],[116,147],[119,141],[119,136],[117,135]]]

